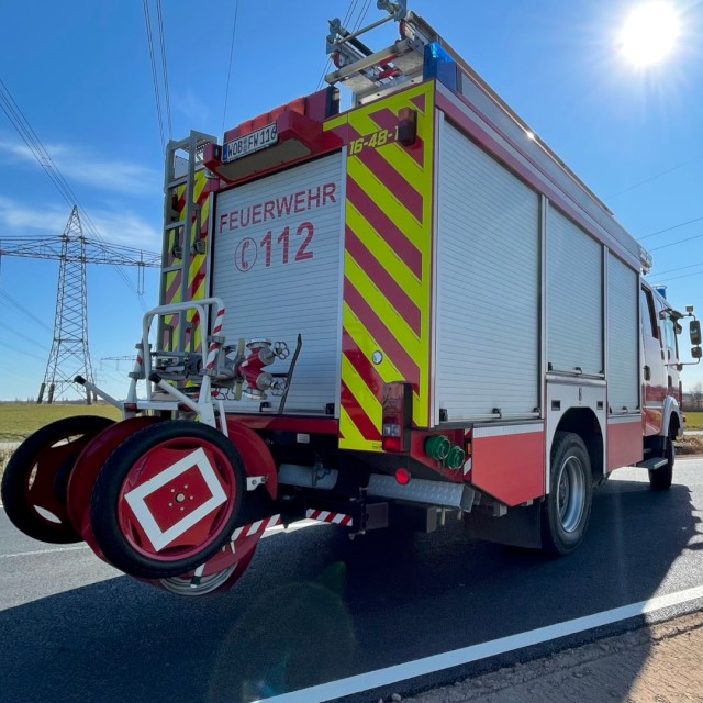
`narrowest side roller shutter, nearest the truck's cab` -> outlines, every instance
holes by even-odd
[[[607,404],[612,412],[639,406],[637,274],[607,257]]]

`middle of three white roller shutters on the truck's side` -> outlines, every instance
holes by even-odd
[[[553,371],[603,373],[602,246],[549,208],[547,361]]]

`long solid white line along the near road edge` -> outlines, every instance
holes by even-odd
[[[500,637],[499,639],[471,645],[470,647],[462,647],[461,649],[455,649],[453,651],[445,651],[444,654],[424,657],[423,659],[415,659],[414,661],[408,661],[386,669],[368,671],[348,677],[347,679],[314,685],[309,689],[300,689],[299,691],[283,693],[282,695],[274,695],[269,699],[256,701],[255,703],[323,703],[324,701],[332,701],[344,695],[362,693],[369,689],[398,683],[399,681],[434,673],[471,661],[479,661],[488,657],[495,657],[507,651],[522,649],[523,647],[539,645],[553,639],[558,639],[559,637],[566,637],[567,635],[573,635],[594,627],[601,627],[602,625],[610,625],[629,617],[644,615],[645,613],[654,613],[700,598],[703,598],[703,587],[687,589],[685,591],[678,591],[667,595],[658,595],[648,601],[614,607],[610,611],[594,613],[593,615],[577,617],[565,621],[563,623],[557,623],[556,625],[547,625],[546,627],[538,627],[537,629],[510,635],[509,637]]]

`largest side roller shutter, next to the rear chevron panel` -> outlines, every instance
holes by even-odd
[[[442,133],[436,406],[449,420],[538,401],[539,198],[449,124]]]

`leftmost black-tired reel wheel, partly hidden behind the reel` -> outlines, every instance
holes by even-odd
[[[82,449],[113,421],[99,415],[57,420],[30,435],[8,461],[2,504],[25,535],[51,544],[81,542],[66,507],[66,487]]]

